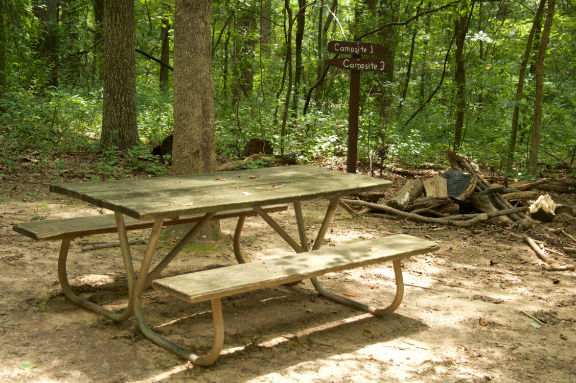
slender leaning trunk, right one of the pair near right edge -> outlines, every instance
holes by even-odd
[[[534,119],[532,121],[532,144],[530,145],[530,157],[528,159],[528,172],[536,176],[538,168],[538,150],[540,148],[540,130],[542,126],[542,103],[544,100],[544,56],[548,46],[548,36],[552,28],[552,19],[554,18],[555,0],[548,0],[548,10],[546,12],[546,21],[538,47],[536,56],[535,79],[536,94],[534,97]]]

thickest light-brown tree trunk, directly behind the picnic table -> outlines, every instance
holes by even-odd
[[[176,0],[172,175],[216,170],[210,6],[210,0]],[[218,237],[218,221],[210,221],[197,238]]]

